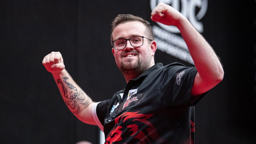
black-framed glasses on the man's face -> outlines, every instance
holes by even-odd
[[[136,36],[136,37],[132,37],[132,38],[129,38],[129,39],[117,39],[117,40],[112,41],[112,43],[113,43],[113,46],[116,50],[124,49],[126,47],[127,40],[129,40],[131,46],[140,47],[140,46],[143,45],[143,38],[146,38],[146,37]],[[149,39],[149,38],[146,38],[146,39]],[[149,40],[151,40],[151,39],[149,39]]]

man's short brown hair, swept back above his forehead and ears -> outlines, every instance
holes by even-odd
[[[130,22],[130,21],[139,21],[141,23],[143,23],[146,26],[146,30],[147,30],[147,36],[149,37],[149,39],[154,40],[154,34],[153,34],[153,30],[152,27],[150,25],[150,23],[146,20],[144,20],[143,18],[139,17],[139,16],[134,16],[132,14],[119,14],[118,16],[116,16],[116,18],[113,20],[112,24],[111,24],[111,45],[112,45],[112,41],[113,41],[113,37],[112,37],[112,32],[114,30],[114,28],[122,23],[125,22]]]

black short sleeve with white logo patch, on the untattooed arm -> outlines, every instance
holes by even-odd
[[[195,67],[170,66],[163,70],[160,89],[165,106],[192,106],[191,90]]]

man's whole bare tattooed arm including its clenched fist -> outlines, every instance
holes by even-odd
[[[52,73],[69,110],[82,122],[96,125],[92,116],[94,102],[66,71],[61,54],[59,52],[51,52],[44,57],[42,63],[46,70]]]

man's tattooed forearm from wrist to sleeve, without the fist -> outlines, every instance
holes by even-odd
[[[52,73],[62,98],[69,110],[81,121],[93,124],[91,116],[91,98],[75,83],[64,69],[60,73]]]

